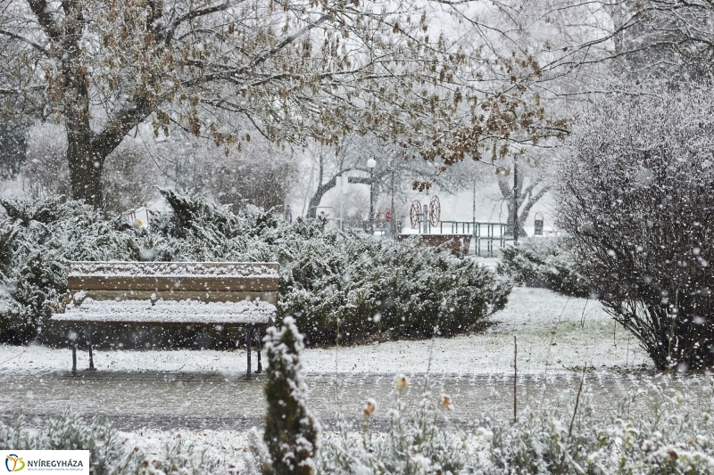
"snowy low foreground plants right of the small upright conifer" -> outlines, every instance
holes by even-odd
[[[428,392],[416,411],[397,392],[386,414],[386,431],[361,432],[344,423],[323,434],[318,473],[484,475],[655,475],[714,472],[710,414],[677,395],[663,397],[647,414],[629,410],[637,396],[614,414],[594,414],[592,398],[554,410],[531,410],[518,423],[497,419],[471,433],[452,426],[449,397]],[[365,421],[377,411],[368,402]],[[455,402],[458,404],[458,400]],[[369,415],[367,414],[369,412]],[[608,410],[608,412],[610,412]]]

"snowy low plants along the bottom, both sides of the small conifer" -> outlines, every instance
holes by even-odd
[[[275,374],[278,378],[278,373]],[[288,378],[281,380],[289,385]],[[295,381],[295,380],[292,380]],[[714,421],[708,412],[713,399],[689,399],[679,393],[648,400],[644,413],[632,407],[638,394],[595,414],[585,391],[579,405],[553,410],[533,409],[518,423],[505,418],[481,422],[476,430],[461,430],[448,414],[459,400],[433,397],[428,383],[416,409],[404,403],[411,383],[395,380],[390,407],[368,399],[361,428],[350,429],[338,416],[337,430],[320,433],[314,456],[316,474],[456,474],[484,475],[689,475],[714,472]],[[413,389],[412,389],[413,390]],[[278,400],[279,404],[279,400]],[[577,410],[576,410],[577,406]],[[386,419],[386,429],[372,429],[374,419]],[[266,430],[267,433],[267,430]],[[233,473],[270,473],[276,460],[250,430],[252,450]],[[84,422],[65,413],[38,428],[24,420],[0,423],[0,450],[84,449],[90,451],[91,475],[205,475],[227,473],[223,457],[188,446],[175,438],[149,454],[137,436],[121,434],[110,422]],[[287,448],[287,447],[283,447]],[[283,452],[291,456],[289,451]],[[291,459],[294,460],[294,459]],[[236,471],[236,468],[238,469]],[[278,472],[278,471],[276,471]],[[293,473],[293,471],[288,471]]]

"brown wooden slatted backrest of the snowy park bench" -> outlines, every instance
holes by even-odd
[[[276,262],[72,262],[68,289],[93,300],[260,299],[277,305],[278,270]]]

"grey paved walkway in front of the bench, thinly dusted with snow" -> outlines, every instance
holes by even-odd
[[[386,420],[386,409],[394,405],[394,374],[345,375],[336,384],[335,374],[306,374],[311,388],[312,410],[326,425],[338,410],[355,421],[361,420],[362,405],[368,397],[377,401],[377,424]],[[410,407],[419,404],[425,388],[425,374],[408,375],[410,384],[403,397]],[[528,407],[565,409],[575,400],[580,375],[552,377],[525,376],[518,381],[520,414]],[[29,422],[41,422],[66,408],[85,417],[110,418],[121,430],[141,428],[237,429],[262,424],[265,403],[264,376],[252,381],[242,376],[220,373],[67,373],[44,375],[0,375],[0,413],[4,422],[24,414]],[[587,397],[597,411],[612,411],[627,395],[642,391],[633,410],[651,407],[662,397],[681,391],[702,404],[712,395],[712,382],[704,377],[652,377],[646,374],[611,376],[586,375]],[[429,377],[428,391],[434,401],[448,394],[453,401],[451,418],[459,424],[473,424],[486,417],[511,416],[512,375],[436,374]],[[339,403],[338,403],[339,401]]]

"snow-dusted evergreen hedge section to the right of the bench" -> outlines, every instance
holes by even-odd
[[[284,262],[281,309],[309,339],[425,337],[466,332],[502,308],[511,289],[493,272],[446,251],[328,233]]]

